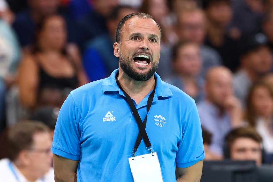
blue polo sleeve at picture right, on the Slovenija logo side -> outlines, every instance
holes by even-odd
[[[176,166],[185,168],[205,158],[202,129],[195,103],[182,123],[182,138],[178,143]]]

